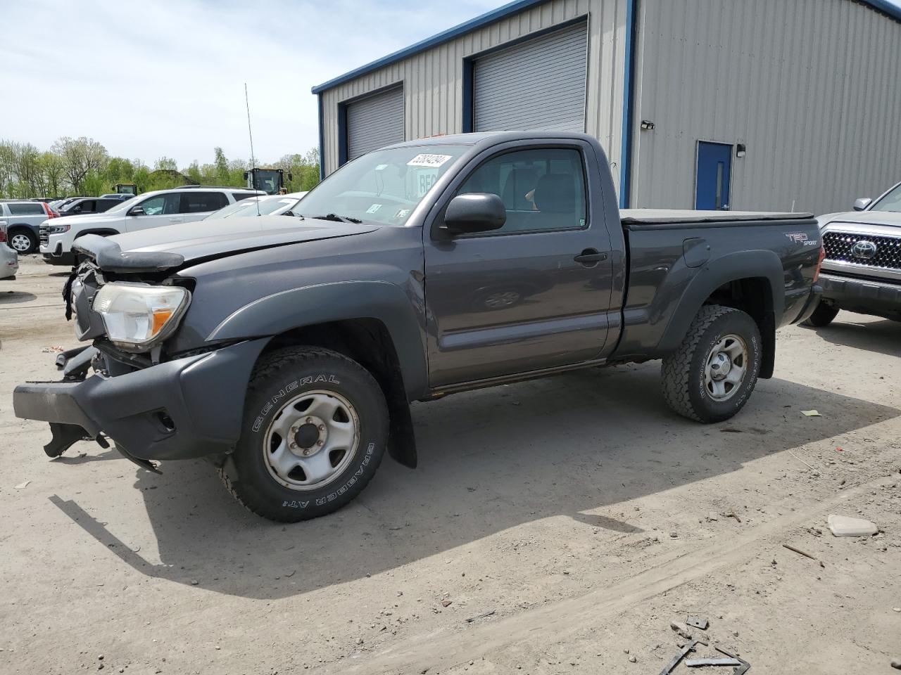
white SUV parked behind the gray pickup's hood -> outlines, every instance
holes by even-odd
[[[138,229],[203,220],[213,211],[247,196],[265,194],[241,187],[158,190],[116,204],[109,211],[47,220],[41,224],[41,253],[50,265],[72,265],[72,243],[86,234],[109,236]]]

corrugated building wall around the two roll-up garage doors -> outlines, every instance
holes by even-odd
[[[462,130],[463,59],[579,16],[588,20],[586,130],[619,166],[626,0],[549,0],[324,91],[323,162],[338,167],[338,103],[404,83],[406,139]],[[619,180],[619,171],[614,171]]]

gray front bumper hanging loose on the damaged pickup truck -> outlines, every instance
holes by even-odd
[[[249,340],[115,377],[20,384],[15,415],[66,425],[70,439],[79,429],[78,437],[103,433],[141,460],[227,453],[241,435],[250,372],[267,342]]]

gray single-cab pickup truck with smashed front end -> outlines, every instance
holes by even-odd
[[[620,212],[608,166],[583,134],[416,140],[343,166],[303,220],[80,238],[63,297],[93,345],[15,413],[50,422],[50,456],[206,457],[279,521],[339,509],[386,451],[415,466],[411,401],[662,359],[672,410],[729,419],[818,301],[816,221]]]

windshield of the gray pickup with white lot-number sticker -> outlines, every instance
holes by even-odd
[[[297,204],[296,214],[329,214],[364,223],[405,225],[432,185],[467,146],[428,145],[376,150],[341,166]]]

